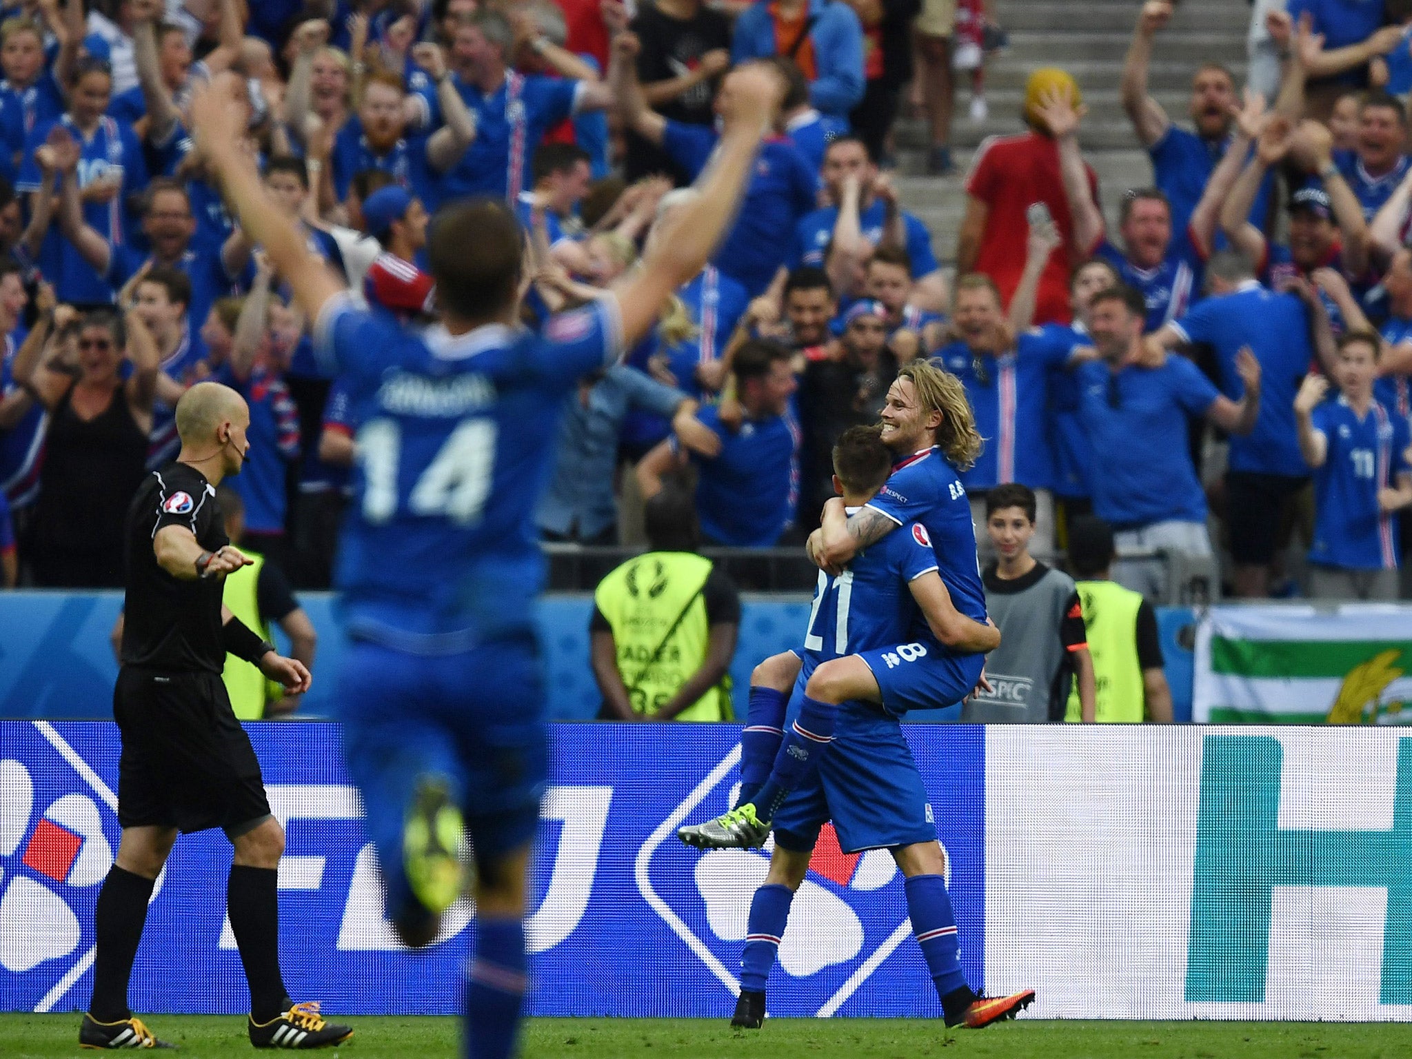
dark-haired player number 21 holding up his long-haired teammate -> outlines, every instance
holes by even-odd
[[[833,449],[834,489],[843,494],[847,511],[856,513],[870,503],[891,472],[891,452],[878,433],[875,426],[853,426]],[[911,642],[899,642],[909,638]],[[980,1028],[1014,1015],[1034,1000],[1028,990],[1005,998],[981,998],[966,984],[956,918],[946,892],[945,854],[898,717],[877,702],[827,705],[832,692],[847,685],[849,651],[888,668],[892,664],[885,659],[891,655],[902,668],[942,652],[938,640],[955,644],[959,651],[987,651],[1000,642],[1000,634],[957,614],[938,575],[926,530],[921,522],[908,522],[902,532],[858,552],[847,570],[836,576],[819,573],[802,668],[801,657],[792,652],[757,668],[751,682],[751,722],[741,736],[741,788],[750,791],[761,775],[770,774],[755,801],[768,799],[771,805],[775,849],[770,874],[750,907],[741,991],[731,1025],[758,1029],[764,1021],[765,981],[789,905],[809,870],[819,829],[830,819],[846,851],[888,849],[897,860],[907,878],[912,929],[947,1025],[964,1022]],[[843,676],[834,678],[839,671]],[[788,681],[794,674],[802,695],[786,717],[788,734],[782,734],[779,722],[785,720],[788,683],[781,683],[781,678]],[[779,719],[767,719],[765,713]],[[770,731],[762,733],[762,726]],[[779,788],[781,795],[768,794],[771,788]],[[709,826],[685,827],[678,834],[692,844],[712,844],[695,842]]]

